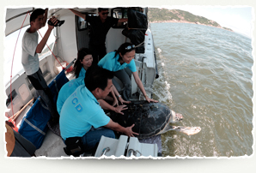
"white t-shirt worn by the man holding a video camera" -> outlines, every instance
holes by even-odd
[[[40,69],[38,54],[35,52],[38,45],[38,33],[27,33],[22,39],[22,57],[21,63],[27,75],[33,75]]]

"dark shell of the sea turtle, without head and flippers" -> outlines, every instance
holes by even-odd
[[[149,138],[155,134],[160,134],[168,124],[171,110],[162,103],[149,103],[147,101],[135,101],[127,104],[128,109],[123,110],[124,115],[110,112],[113,122],[118,122],[123,127],[135,126],[132,131],[138,139]]]

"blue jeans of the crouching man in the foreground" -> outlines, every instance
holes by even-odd
[[[94,149],[94,147],[100,142],[101,135],[108,138],[115,138],[115,134],[112,129],[109,128],[91,128],[88,133],[82,136],[82,145],[85,152]]]

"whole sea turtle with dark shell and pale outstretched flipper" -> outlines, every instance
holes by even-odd
[[[171,126],[169,123],[178,122],[183,119],[181,114],[170,110],[162,103],[148,103],[147,101],[134,101],[127,104],[128,109],[123,110],[124,115],[110,112],[107,114],[113,122],[118,122],[123,127],[129,127],[133,123],[132,131],[138,133],[138,139],[149,138],[156,134],[163,134],[169,130],[192,135],[198,134],[199,127]]]

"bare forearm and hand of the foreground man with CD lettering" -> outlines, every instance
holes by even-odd
[[[110,121],[107,123],[107,125],[105,127],[113,129],[114,131],[118,131],[118,132],[121,132],[123,134],[126,134],[129,137],[134,136],[133,134],[137,134],[137,133],[133,132],[132,129],[131,129],[131,128],[134,127],[134,124],[132,124],[131,127],[124,128],[124,127],[120,126],[119,123],[113,122],[110,119]]]

